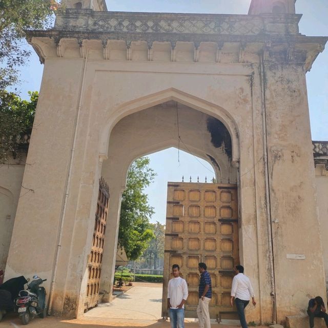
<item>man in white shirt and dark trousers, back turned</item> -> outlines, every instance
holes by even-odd
[[[231,306],[234,306],[235,299],[241,327],[248,328],[244,309],[250,302],[251,297],[253,305],[256,305],[254,291],[249,277],[244,275],[244,268],[242,265],[236,265],[235,273],[236,275],[232,280],[230,304]]]

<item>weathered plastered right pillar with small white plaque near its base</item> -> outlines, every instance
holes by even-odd
[[[304,68],[264,65],[278,322],[325,297]]]

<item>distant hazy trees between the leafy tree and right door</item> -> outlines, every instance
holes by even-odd
[[[164,257],[165,224],[156,221],[156,223],[151,223],[151,227],[155,237],[150,241],[143,258],[148,263],[147,268],[153,266],[156,270],[158,259]]]

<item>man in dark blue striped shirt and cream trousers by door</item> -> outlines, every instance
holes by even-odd
[[[212,281],[210,274],[206,271],[205,263],[198,263],[198,271],[200,273],[198,287],[198,306],[197,316],[200,328],[211,328],[209,303],[212,298]]]

